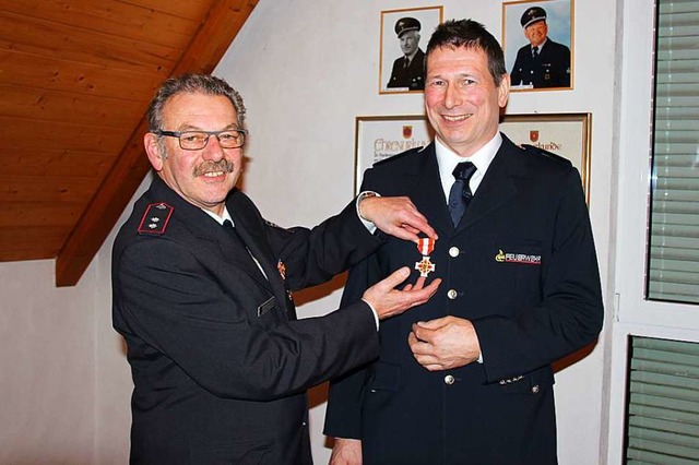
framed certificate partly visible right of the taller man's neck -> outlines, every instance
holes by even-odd
[[[568,158],[582,178],[590,204],[591,114],[506,115],[500,131],[517,145],[534,145]]]

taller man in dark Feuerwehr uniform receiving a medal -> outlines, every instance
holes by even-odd
[[[580,175],[498,132],[510,80],[483,25],[442,23],[426,53],[435,142],[377,163],[363,189],[407,195],[439,239],[389,240],[352,270],[343,299],[408,261],[443,283],[381,322],[378,361],[332,383],[331,464],[554,465],[552,362],[603,321]]]

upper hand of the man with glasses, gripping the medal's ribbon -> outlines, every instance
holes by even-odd
[[[429,226],[427,218],[406,196],[364,198],[359,201],[359,215],[399,239],[417,242],[419,233],[437,239],[437,233]]]

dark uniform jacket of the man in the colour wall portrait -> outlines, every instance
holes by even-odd
[[[550,38],[532,57],[532,46],[525,45],[517,52],[510,73],[512,85],[532,84],[538,87],[570,87],[570,49]]]

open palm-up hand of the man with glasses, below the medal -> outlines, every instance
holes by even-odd
[[[437,278],[425,287],[425,278],[418,277],[415,285],[407,284],[403,290],[395,286],[403,283],[411,275],[411,269],[403,266],[383,281],[365,290],[362,299],[376,310],[379,320],[403,313],[405,310],[425,303],[435,295],[441,279]]]

